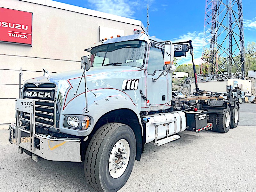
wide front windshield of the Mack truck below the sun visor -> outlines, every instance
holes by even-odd
[[[140,40],[100,45],[91,50],[91,66],[121,65],[142,67],[145,51],[146,42]]]

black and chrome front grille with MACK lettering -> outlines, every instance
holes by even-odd
[[[23,98],[36,101],[36,124],[54,127],[55,84],[44,83],[38,86],[33,83],[25,84]],[[22,117],[27,120],[30,118],[28,113],[23,113]]]

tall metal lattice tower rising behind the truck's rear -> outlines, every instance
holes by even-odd
[[[244,23],[242,0],[206,0],[203,73],[214,75],[221,71],[244,74]]]

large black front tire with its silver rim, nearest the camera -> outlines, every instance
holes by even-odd
[[[103,125],[92,137],[84,162],[88,183],[101,192],[116,192],[128,180],[136,156],[132,129],[121,123]]]

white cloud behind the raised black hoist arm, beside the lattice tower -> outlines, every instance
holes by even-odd
[[[203,39],[204,39],[204,32],[194,31],[194,32],[188,32],[187,34],[181,35],[178,38],[174,38],[172,42],[182,42],[182,41],[192,40],[193,51],[194,51],[194,63],[196,65],[199,65],[200,58],[202,57]],[[181,60],[178,62],[179,65],[192,63],[190,52],[187,52],[186,57],[180,57],[180,58]]]

